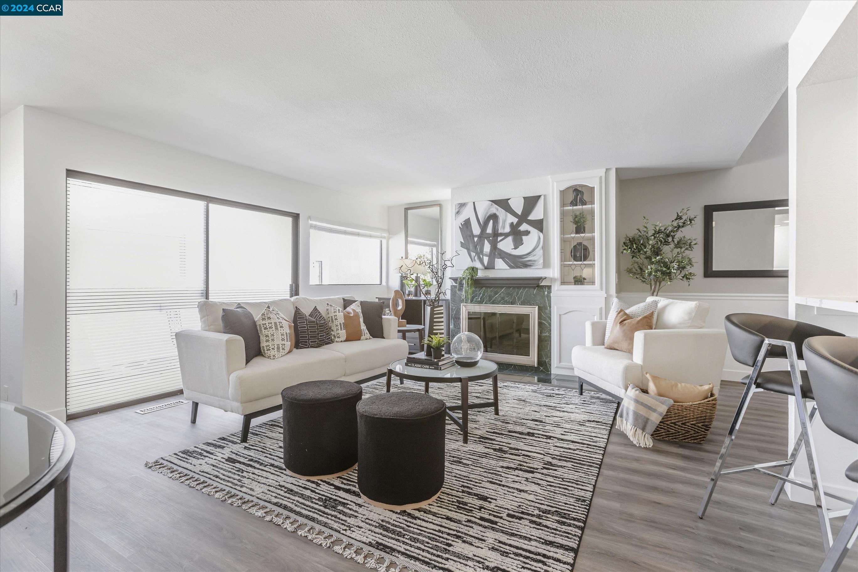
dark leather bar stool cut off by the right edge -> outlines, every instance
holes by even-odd
[[[804,343],[807,376],[825,426],[844,439],[858,443],[858,338],[819,336]],[[858,461],[846,467],[846,478],[858,483]],[[852,509],[830,513],[847,514],[837,539],[825,554],[819,572],[834,572],[853,542],[858,529],[858,503]]]

